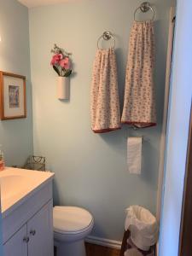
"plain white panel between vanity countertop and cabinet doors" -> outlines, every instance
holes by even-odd
[[[51,199],[52,182],[44,185],[14,212],[3,218],[3,244]]]

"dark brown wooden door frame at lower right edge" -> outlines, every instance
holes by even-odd
[[[191,254],[191,213],[192,213],[192,108],[190,112],[188,154],[183,192],[183,209],[180,229],[179,255]]]

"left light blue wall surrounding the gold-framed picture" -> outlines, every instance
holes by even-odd
[[[0,144],[7,166],[22,165],[32,154],[32,93],[28,10],[16,0],[0,0],[0,70],[26,76],[27,118],[0,120]]]

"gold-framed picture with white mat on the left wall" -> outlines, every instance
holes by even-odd
[[[0,119],[26,118],[26,77],[0,72]]]

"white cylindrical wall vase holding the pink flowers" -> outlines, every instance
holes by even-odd
[[[59,100],[68,100],[70,91],[69,77],[57,78],[57,97]]]

